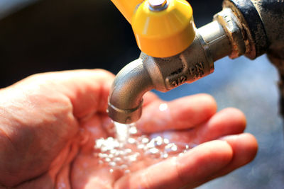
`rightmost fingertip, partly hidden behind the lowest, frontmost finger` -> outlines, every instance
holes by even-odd
[[[256,138],[249,133],[226,136],[221,139],[230,144],[234,151],[234,156],[230,164],[212,176],[210,180],[219,176],[224,176],[227,173],[234,171],[236,168],[249,164],[249,162],[255,158],[258,150]]]

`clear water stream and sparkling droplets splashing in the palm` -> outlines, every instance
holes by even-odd
[[[149,137],[138,132],[136,125],[114,122],[116,134],[107,139],[96,139],[94,149],[99,164],[109,166],[110,173],[119,170],[124,173],[135,171],[134,164],[139,161],[159,162],[170,156],[182,155],[192,147],[188,144],[170,142],[170,139]]]

